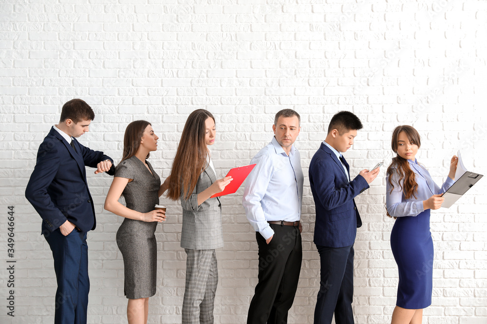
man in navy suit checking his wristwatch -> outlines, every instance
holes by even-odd
[[[88,246],[86,233],[96,226],[85,166],[94,173],[114,174],[113,160],[77,141],[94,119],[81,99],[66,102],[59,124],[39,146],[37,163],[25,197],[42,218],[42,234],[49,243],[56,272],[55,324],[86,324]]]

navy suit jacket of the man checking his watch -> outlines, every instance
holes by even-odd
[[[110,160],[112,168],[107,173],[113,175],[113,160],[103,152],[84,147],[76,138],[74,145],[77,153],[53,127],[37,151],[25,197],[43,220],[42,234],[56,230],[66,220],[83,232],[96,226],[85,166],[96,168],[99,162]]]

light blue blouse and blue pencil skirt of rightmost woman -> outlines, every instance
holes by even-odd
[[[421,309],[431,305],[433,290],[433,240],[430,232],[430,209],[424,210],[423,200],[445,192],[454,183],[447,180],[439,188],[430,173],[417,161],[408,160],[418,184],[416,198],[405,199],[399,186],[399,176],[393,172],[391,192],[386,181],[386,207],[397,217],[391,231],[391,249],[399,271],[396,305],[407,309]],[[386,179],[389,178],[389,174]],[[401,186],[403,181],[401,181]]]

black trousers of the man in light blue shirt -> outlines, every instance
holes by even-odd
[[[248,309],[247,324],[286,324],[301,272],[302,245],[298,226],[270,224],[269,242],[256,233],[259,283]]]

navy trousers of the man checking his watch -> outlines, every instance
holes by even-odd
[[[86,232],[76,228],[64,236],[59,229],[44,234],[56,272],[55,324],[86,324],[88,307],[88,245]]]

